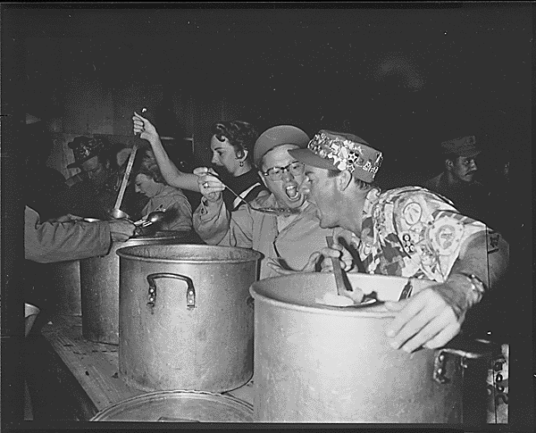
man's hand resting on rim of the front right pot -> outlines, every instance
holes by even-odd
[[[424,288],[403,301],[385,303],[389,311],[398,312],[387,329],[391,346],[411,353],[421,346],[444,346],[456,337],[465,315],[456,318],[454,309],[439,294],[441,286]]]

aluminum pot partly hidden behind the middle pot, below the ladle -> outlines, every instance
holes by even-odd
[[[82,336],[90,341],[119,345],[119,257],[126,246],[192,243],[195,233],[158,231],[151,237],[113,242],[110,252],[80,261]]]

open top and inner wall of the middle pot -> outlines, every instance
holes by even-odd
[[[234,246],[147,245],[128,246],[118,250],[121,257],[143,262],[252,262],[262,254]]]

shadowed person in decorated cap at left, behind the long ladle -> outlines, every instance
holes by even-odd
[[[63,196],[63,213],[110,220],[123,174],[117,167],[112,146],[105,137],[76,137],[69,147],[74,162],[67,168],[79,168],[81,172],[65,181],[69,189]],[[121,210],[132,219],[140,211],[136,198],[134,188],[127,187]]]

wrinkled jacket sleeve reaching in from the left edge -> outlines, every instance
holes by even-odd
[[[110,249],[110,225],[100,222],[43,222],[38,212],[24,212],[24,256],[33,262],[50,263],[105,255]]]

